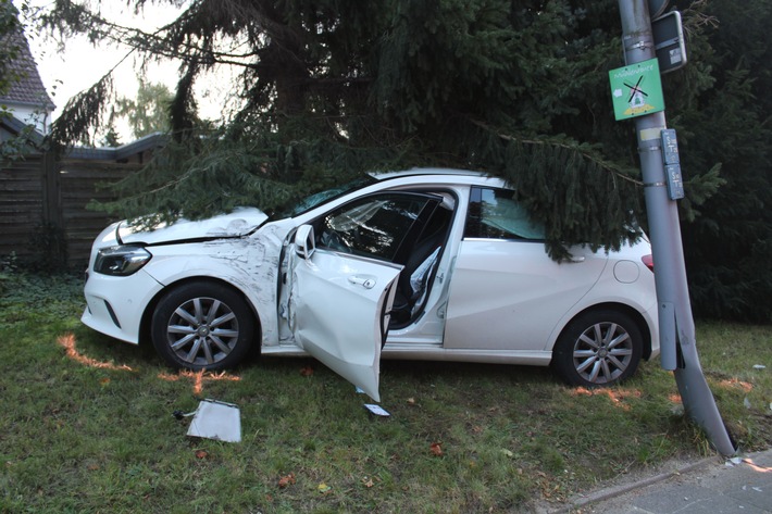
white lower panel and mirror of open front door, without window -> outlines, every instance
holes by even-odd
[[[381,347],[400,265],[316,249],[310,225],[290,251],[289,327],[309,354],[381,401]]]

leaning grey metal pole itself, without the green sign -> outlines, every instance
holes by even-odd
[[[627,65],[656,58],[647,1],[619,0],[619,8]],[[673,371],[686,414],[721,454],[733,455],[737,450],[702,375],[695,346],[677,204],[668,195],[662,161],[664,112],[636,117],[635,128],[655,262],[662,367]]]

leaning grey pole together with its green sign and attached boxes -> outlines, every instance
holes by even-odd
[[[619,0],[625,67],[609,72],[617,120],[634,118],[659,303],[662,367],[672,371],[686,414],[723,455],[732,441],[697,355],[676,200],[683,198],[675,131],[668,129],[650,9],[667,0]],[[661,24],[660,24],[661,25]],[[678,17],[680,30],[680,17]],[[671,60],[683,60],[680,50]],[[665,62],[668,65],[669,62]]]

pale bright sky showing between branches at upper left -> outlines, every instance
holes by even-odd
[[[27,0],[27,3],[33,7],[45,7],[52,1]],[[14,4],[20,8],[21,1],[14,0]],[[145,11],[136,15],[133,9],[126,7],[125,0],[103,0],[101,2],[103,17],[123,26],[136,27],[145,32],[153,32],[173,21],[183,9],[148,2]],[[38,34],[29,28],[25,33],[40,78],[53,103],[57,104],[52,114],[53,120],[61,113],[70,98],[91,87],[130,50],[126,46],[119,45],[105,46],[101,43],[95,47],[86,37],[77,37],[67,39],[64,50],[60,51],[58,41],[47,35]],[[113,85],[119,96],[127,98],[136,96],[139,85],[137,79],[138,64],[134,57],[129,57],[115,70]],[[177,72],[177,63],[152,64],[148,68],[147,80],[165,84],[171,90],[174,90],[178,78]],[[197,86],[199,114],[210,120],[219,118],[223,112],[222,102],[217,101],[217,98],[222,98],[223,91],[219,90],[222,84],[203,80]],[[122,141],[127,142],[133,139],[127,124],[117,125],[116,129]]]

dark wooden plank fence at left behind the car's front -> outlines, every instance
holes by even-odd
[[[0,256],[15,253],[22,262],[66,259],[67,266],[85,268],[94,238],[114,221],[86,205],[91,199],[112,200],[99,186],[140,166],[114,160],[55,160],[51,154],[0,163]],[[62,238],[65,246],[57,243]]]

